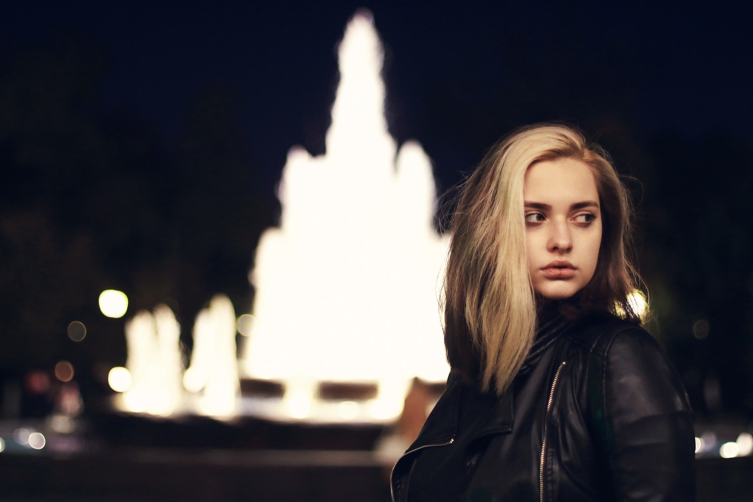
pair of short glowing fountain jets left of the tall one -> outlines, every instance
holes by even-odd
[[[115,406],[157,416],[237,415],[236,317],[230,300],[212,298],[197,316],[193,334],[191,365],[184,372],[180,326],[169,307],[157,306],[154,314],[139,312],[128,321],[126,367],[114,368],[110,375],[111,386],[123,392]]]

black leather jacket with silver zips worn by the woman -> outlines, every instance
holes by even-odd
[[[468,442],[469,431],[457,430],[459,409],[482,398],[450,373],[392,470],[393,501],[408,499],[421,453],[449,453],[460,447],[460,432],[461,500],[695,500],[687,394],[663,350],[635,324],[592,315],[538,333],[511,390],[490,401]]]

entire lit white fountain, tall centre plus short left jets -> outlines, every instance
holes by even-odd
[[[242,315],[236,326],[230,300],[213,298],[197,316],[183,372],[172,311],[139,312],[126,327],[127,367],[110,375],[123,391],[118,409],[390,421],[413,377],[447,378],[437,285],[448,239],[433,226],[431,162],[414,141],[398,149],[387,131],[383,49],[370,17],[349,23],[339,59],[327,153],[291,149],[279,184],[280,226],[258,245],[249,275],[255,317]],[[236,327],[248,335],[240,365]],[[240,399],[239,371],[247,382],[279,385],[282,397]],[[323,398],[323,385],[340,384],[373,392]]]

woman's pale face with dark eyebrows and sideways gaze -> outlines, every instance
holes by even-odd
[[[528,271],[536,293],[572,297],[593,277],[602,242],[599,193],[580,160],[535,163],[523,186]]]

